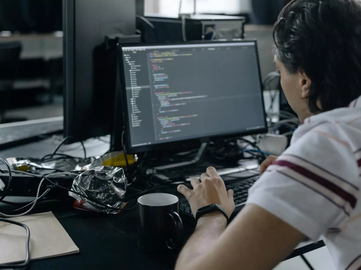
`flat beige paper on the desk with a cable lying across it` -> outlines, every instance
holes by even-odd
[[[78,253],[79,248],[52,212],[14,217],[30,229],[30,259]],[[0,222],[0,264],[21,262],[26,257],[26,230]]]

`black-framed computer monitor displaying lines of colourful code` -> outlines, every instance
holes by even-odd
[[[266,131],[256,41],[121,50],[123,139],[128,153]]]

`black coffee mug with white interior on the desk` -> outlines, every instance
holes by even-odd
[[[166,193],[152,193],[138,198],[139,249],[159,252],[180,247],[183,223],[178,215],[178,197]]]

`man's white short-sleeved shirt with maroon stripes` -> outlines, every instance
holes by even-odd
[[[249,190],[307,237],[323,237],[338,270],[361,270],[361,97],[307,118]]]

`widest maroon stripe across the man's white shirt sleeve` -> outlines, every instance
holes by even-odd
[[[339,197],[343,198],[345,201],[349,202],[352,208],[355,208],[356,202],[357,202],[357,199],[355,198],[355,196],[353,196],[352,194],[346,192],[345,190],[343,190],[339,186],[335,185],[331,181],[329,181],[329,180],[327,180],[327,179],[325,179],[325,178],[323,178],[323,177],[321,177],[321,176],[319,176],[317,174],[314,174],[313,172],[307,170],[306,168],[301,167],[299,165],[296,165],[296,164],[294,164],[292,162],[279,160],[279,161],[276,161],[273,164],[288,167],[291,170],[293,170],[295,172],[298,172],[299,174],[301,174],[301,175],[307,177],[308,179],[318,183],[319,185],[324,186],[326,189],[330,190],[331,192],[335,193]]]

